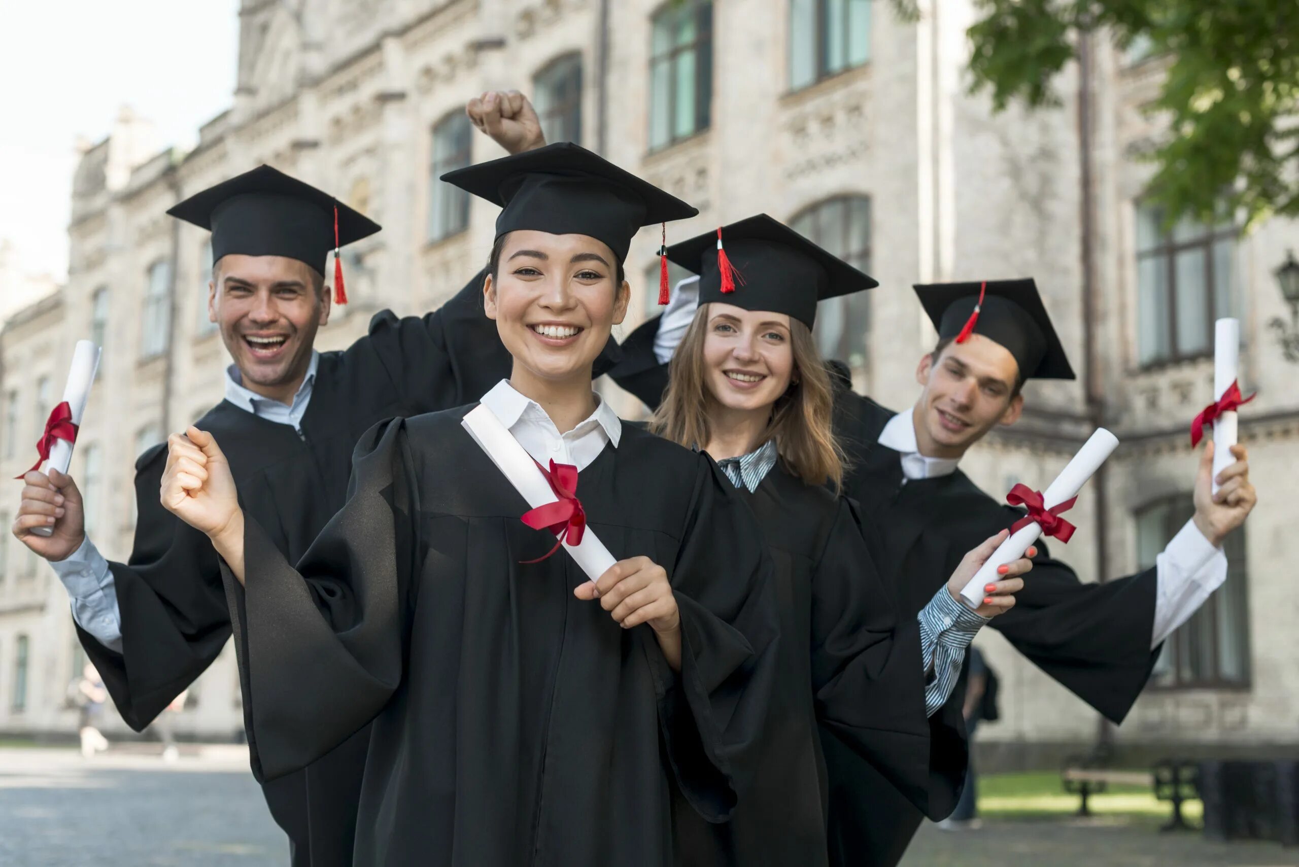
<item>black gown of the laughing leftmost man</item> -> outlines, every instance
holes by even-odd
[[[475,400],[509,374],[495,323],[482,313],[481,286],[482,275],[422,318],[399,319],[385,310],[351,348],[321,353],[300,431],[229,401],[196,422],[221,444],[243,507],[275,550],[296,559],[342,507],[352,449],[370,426]],[[165,465],[165,445],[136,462],[135,544],[130,561],[109,563],[122,652],[78,629],[122,718],[136,731],[188,687],[230,637],[212,544],[158,502]],[[246,723],[247,713],[246,705]],[[351,863],[366,739],[361,731],[310,767],[265,787],[295,867]]]

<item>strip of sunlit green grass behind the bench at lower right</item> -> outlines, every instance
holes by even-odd
[[[1074,815],[1078,803],[1077,794],[1065,794],[1055,771],[978,777],[978,811],[987,819],[1059,820]],[[1111,785],[1104,794],[1092,794],[1087,805],[1096,816],[1124,824],[1163,824],[1173,814],[1172,805],[1156,801],[1150,787]],[[1204,809],[1199,801],[1187,801],[1182,815],[1195,824]]]

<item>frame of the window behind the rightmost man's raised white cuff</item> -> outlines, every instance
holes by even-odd
[[[1133,511],[1133,522],[1134,526],[1137,527],[1137,532],[1138,533],[1141,532],[1139,522],[1143,515],[1150,514],[1155,509],[1165,509],[1167,511],[1164,515],[1164,526],[1161,527],[1160,535],[1161,539],[1165,540],[1164,545],[1167,545],[1168,541],[1170,541],[1173,536],[1177,535],[1177,532],[1189,519],[1185,504],[1189,504],[1190,501],[1191,501],[1190,492],[1179,492],[1163,497],[1156,497],[1155,500],[1150,500],[1142,504],[1141,507]],[[1182,507],[1178,509],[1178,506]],[[1194,514],[1194,509],[1191,514]],[[1243,533],[1244,530],[1242,527],[1238,528],[1235,532]],[[1161,545],[1160,548],[1163,549],[1164,545]],[[1186,623],[1177,627],[1177,629],[1174,629],[1172,635],[1164,639],[1164,650],[1161,650],[1160,657],[1163,657],[1164,653],[1169,654],[1169,667],[1168,667],[1169,679],[1156,680],[1155,672],[1152,671],[1151,680],[1147,684],[1147,688],[1150,690],[1161,693],[1187,692],[1194,689],[1250,692],[1254,688],[1254,658],[1252,658],[1254,648],[1252,648],[1252,641],[1250,640],[1250,615],[1248,615],[1250,611],[1248,562],[1243,552],[1244,549],[1243,536],[1239,537],[1239,545],[1242,549],[1241,556],[1235,557],[1234,559],[1237,561],[1237,568],[1241,570],[1241,574],[1239,575],[1229,574],[1228,580],[1234,580],[1235,587],[1239,588],[1238,592],[1241,593],[1241,606],[1243,611],[1242,617],[1244,618],[1243,676],[1239,678],[1238,680],[1222,676],[1221,655],[1222,655],[1224,639],[1222,639],[1221,597],[1218,596],[1218,593],[1221,593],[1226,588],[1220,588],[1220,591],[1213,596],[1211,596],[1204,602],[1204,605],[1195,614],[1192,614],[1191,618],[1186,620]],[[1229,562],[1230,559],[1233,558],[1229,558]],[[1146,566],[1144,568],[1150,568],[1150,566]],[[1190,629],[1187,629],[1187,627],[1191,624],[1194,618],[1202,615],[1209,618],[1209,627],[1213,636],[1212,648],[1209,653],[1209,657],[1213,661],[1213,674],[1208,678],[1192,678],[1189,680],[1183,680],[1179,674],[1181,668],[1179,662],[1183,654],[1190,655],[1192,653],[1191,641],[1194,637],[1194,633]]]

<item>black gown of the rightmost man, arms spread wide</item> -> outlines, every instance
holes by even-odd
[[[657,331],[657,317],[637,328],[609,371],[618,385],[651,408],[659,405],[669,380],[668,365],[660,365],[653,354]],[[834,430],[852,465],[844,493],[860,504],[870,550],[898,600],[898,617],[913,617],[968,550],[1024,513],[987,496],[959,470],[904,485],[902,456],[878,444],[895,413],[853,393],[842,376],[834,379]],[[1150,648],[1155,570],[1085,584],[1066,563],[1051,558],[1046,544],[1039,543],[1038,552],[1015,607],[994,618],[990,627],[1120,723],[1157,658],[1157,650]],[[931,719],[930,771],[938,779],[950,779],[965,764],[964,700],[959,685]],[[821,733],[830,781],[831,864],[894,867],[924,815],[850,745],[824,728]]]

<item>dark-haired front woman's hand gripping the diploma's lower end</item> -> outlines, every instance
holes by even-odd
[[[611,566],[600,580],[573,589],[579,600],[600,600],[624,629],[648,623],[668,665],[681,670],[681,611],[668,572],[648,557],[631,557]]]

